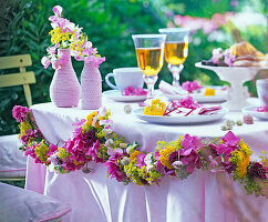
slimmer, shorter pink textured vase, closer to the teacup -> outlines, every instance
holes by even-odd
[[[102,77],[91,62],[84,62],[81,73],[81,105],[83,110],[102,107]]]

